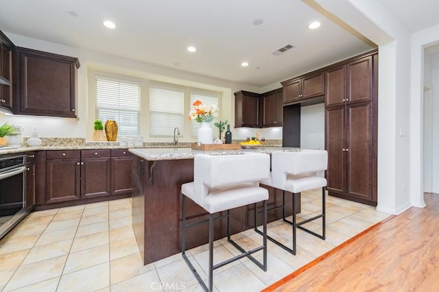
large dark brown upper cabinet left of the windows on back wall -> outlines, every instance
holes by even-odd
[[[13,112],[76,117],[77,58],[16,47]]]

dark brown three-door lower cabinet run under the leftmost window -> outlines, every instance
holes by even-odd
[[[98,202],[97,200],[131,196],[132,156],[128,150],[46,152],[45,200],[40,204],[84,204],[80,202]],[[85,199],[86,201],[82,201]],[[62,206],[68,206],[66,204]]]

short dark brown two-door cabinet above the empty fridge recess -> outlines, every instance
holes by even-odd
[[[310,73],[286,80],[281,84],[283,86],[283,104],[310,103],[304,99],[324,96],[324,72]],[[316,101],[316,103],[321,102]]]

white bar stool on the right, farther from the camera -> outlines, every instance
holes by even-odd
[[[264,180],[261,184],[272,186],[283,191],[283,204],[275,206],[268,210],[283,208],[283,221],[292,224],[293,242],[292,248],[287,247],[283,243],[276,241],[271,236],[267,238],[282,247],[287,252],[296,255],[296,228],[304,230],[309,234],[313,234],[320,239],[326,238],[326,221],[325,221],[325,187],[327,180],[317,175],[317,171],[325,171],[328,168],[328,152],[326,150],[309,150],[303,149],[301,151],[273,151],[272,152],[272,171],[270,178]],[[314,188],[322,188],[322,213],[311,217],[309,219],[296,222],[296,194],[303,191],[309,191]],[[292,221],[285,218],[285,191],[293,193],[293,216]],[[254,207],[256,210],[256,206]],[[254,212],[254,230],[262,234],[257,228],[257,213]],[[322,218],[322,234],[318,234],[302,226],[302,224]]]

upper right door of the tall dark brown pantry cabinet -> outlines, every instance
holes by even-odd
[[[372,100],[372,56],[350,62],[346,66],[349,104]]]

